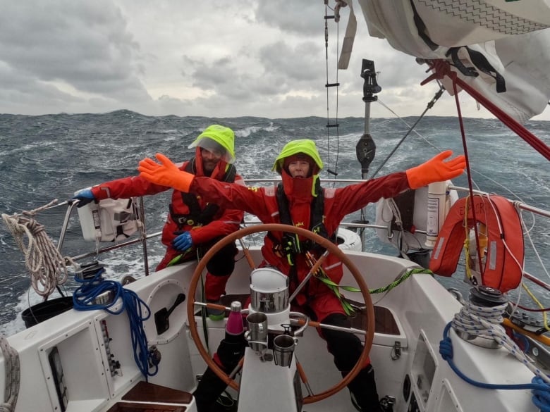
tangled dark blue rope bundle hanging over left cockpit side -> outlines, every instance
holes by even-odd
[[[138,294],[132,290],[123,288],[120,282],[104,280],[102,277],[104,271],[104,268],[100,268],[91,279],[79,279],[75,277],[75,281],[82,285],[73,293],[73,307],[77,311],[103,309],[113,315],[118,315],[126,311],[128,322],[130,323],[130,337],[132,339],[134,361],[138,368],[140,368],[142,375],[145,376],[145,380],[147,380],[147,377],[157,375],[159,372],[158,361],[154,359],[147,347],[147,335],[143,328],[143,321],[149,319],[151,310],[147,304],[140,299]],[[94,300],[97,299],[97,296],[109,291],[113,292],[114,296],[109,303],[94,304]],[[117,311],[109,309],[116,304],[118,298],[122,299],[121,308]],[[146,315],[144,315],[144,309]],[[152,366],[152,371],[149,370],[149,365]]]

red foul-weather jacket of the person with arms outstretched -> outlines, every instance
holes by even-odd
[[[297,227],[310,229],[313,177],[293,178],[285,170],[282,171],[282,177],[293,224]],[[338,189],[323,189],[326,231],[329,235],[333,234],[341,220],[349,213],[381,198],[396,196],[405,189],[409,189],[405,172],[393,173]],[[205,177],[195,177],[190,191],[200,194],[220,206],[231,206],[252,213],[262,223],[281,223],[275,185],[271,187],[244,187],[241,185],[228,185]],[[272,238],[280,241],[282,235],[281,232],[274,232],[264,238],[262,256],[264,257],[264,264],[274,266],[282,273],[289,275],[291,266],[289,266],[286,256],[277,256],[273,250],[274,241]],[[291,279],[291,293],[293,287],[299,285],[309,273],[309,268],[302,255],[296,256],[295,267],[298,279],[294,281]],[[326,274],[331,277],[331,280],[336,283],[340,282],[343,275],[342,263],[334,254],[329,254],[322,267]],[[296,296],[295,303],[309,306],[316,313],[319,321],[322,321],[331,313],[344,313],[340,301],[324,283],[312,278],[308,284]]]

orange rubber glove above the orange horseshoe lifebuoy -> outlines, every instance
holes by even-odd
[[[422,163],[415,168],[406,170],[407,180],[411,189],[429,185],[434,182],[444,182],[445,180],[458,177],[464,173],[466,159],[464,155],[456,156],[449,161],[444,160],[453,155],[453,151],[446,150]]]

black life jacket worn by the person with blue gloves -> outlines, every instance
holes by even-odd
[[[237,174],[237,170],[235,165],[229,164],[228,169],[226,170],[226,173],[224,174],[223,179],[221,179],[221,182],[229,182],[233,183],[235,182],[235,176]],[[195,173],[197,172],[195,168],[195,158],[191,159],[190,162],[188,162],[187,166],[185,166],[185,172],[188,173]],[[219,206],[216,204],[207,204],[203,209],[200,208],[200,204],[197,201],[197,196],[193,193],[186,193],[181,192],[181,199],[184,204],[187,205],[189,208],[189,213],[184,215],[181,213],[175,213],[173,211],[173,206],[170,204],[170,215],[172,217],[172,220],[178,225],[178,228],[181,229],[185,225],[190,226],[204,226],[208,225],[208,223],[212,222],[214,219],[214,215],[219,210]]]

